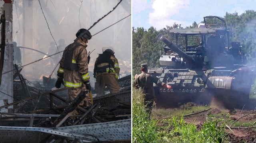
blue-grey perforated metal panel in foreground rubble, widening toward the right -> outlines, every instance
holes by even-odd
[[[85,125],[75,125],[70,127],[59,127],[60,131],[78,133],[81,135],[94,135],[101,139],[125,140],[131,139],[132,123],[131,119],[111,121],[106,123],[94,123]]]

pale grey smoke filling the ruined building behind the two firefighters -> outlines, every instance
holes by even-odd
[[[119,0],[40,0],[51,35],[38,0],[16,0],[16,5],[13,4],[13,37],[15,35],[13,41],[17,42],[17,46],[33,48],[48,53],[48,55],[52,55],[58,50],[63,51],[65,47],[59,47],[60,39],[64,39],[66,46],[69,45],[76,39],[75,34],[78,29],[88,29],[94,22],[112,10],[118,2]],[[123,0],[112,13],[90,29],[90,33],[94,35],[129,14],[131,14],[131,0]],[[54,41],[52,36],[58,45],[58,50],[56,46],[51,47],[50,45]],[[91,72],[93,72],[98,54],[102,53],[102,47],[113,47],[115,56],[120,63],[121,74],[131,72],[131,69],[127,68],[127,63],[131,63],[131,17],[98,33],[89,40],[87,51],[95,49],[90,55],[89,71]],[[45,56],[29,49],[21,49],[21,54],[22,65]],[[60,61],[61,56],[60,54],[56,55],[55,65]],[[24,67],[22,74],[33,80],[49,76],[55,67],[55,65],[54,67],[51,65],[50,59],[44,59]],[[53,76],[56,76],[56,71]]]

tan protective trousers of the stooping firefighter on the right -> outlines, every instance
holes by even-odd
[[[107,86],[110,94],[119,93],[120,85],[114,74],[102,74],[97,76],[95,82],[95,90],[97,95],[104,95],[105,86]]]

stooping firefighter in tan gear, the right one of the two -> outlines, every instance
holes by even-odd
[[[96,93],[104,95],[105,86],[109,89],[110,94],[118,93],[120,89],[117,81],[120,71],[118,60],[114,56],[112,47],[103,47],[102,52],[94,64]]]

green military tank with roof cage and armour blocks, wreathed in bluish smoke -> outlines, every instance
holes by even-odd
[[[248,102],[255,68],[245,65],[239,42],[230,47],[226,22],[217,16],[204,17],[205,22],[207,18],[223,24],[171,29],[175,43],[158,35],[164,42],[159,59],[163,67],[149,69],[148,73],[172,86],[154,86],[156,98],[165,102],[164,107],[186,102],[208,104],[212,96],[220,98],[227,108],[242,108]]]

